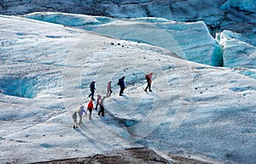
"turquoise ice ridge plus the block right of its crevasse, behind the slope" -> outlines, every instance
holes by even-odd
[[[76,14],[44,12],[26,14],[24,17],[76,26],[128,41],[145,42],[167,48],[182,59],[205,65],[254,68],[256,64],[253,59],[255,47],[249,38],[239,33],[223,31],[217,33],[214,39],[208,31],[207,25],[202,21],[183,23],[160,18],[111,19],[88,15],[81,15],[79,21]],[[72,23],[72,21],[74,22]],[[231,42],[228,38],[236,38],[236,42]],[[241,55],[241,51],[245,51],[246,55]],[[247,59],[248,55],[249,59]],[[243,60],[247,60],[247,62]]]

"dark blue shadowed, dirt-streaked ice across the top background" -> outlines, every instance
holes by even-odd
[[[256,3],[254,0],[52,0],[0,2],[0,14],[17,15],[33,12],[62,12],[102,15],[112,18],[159,17],[182,22],[204,21],[215,37],[218,31],[236,31],[255,40]]]

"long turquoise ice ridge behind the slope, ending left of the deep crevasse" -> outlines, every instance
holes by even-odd
[[[24,17],[61,25],[68,24],[109,37],[167,48],[182,59],[205,65],[223,65],[222,49],[210,35],[207,25],[200,21],[182,23],[159,18],[114,20],[85,15],[79,21],[74,14],[61,13],[34,13]],[[74,22],[71,23],[72,21]]]

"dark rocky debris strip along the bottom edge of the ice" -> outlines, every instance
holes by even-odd
[[[132,163],[132,164],[167,164],[172,162],[173,164],[213,164],[212,161],[205,161],[202,159],[194,159],[191,156],[176,156],[167,155],[168,160],[155,153],[154,150],[147,148],[131,148],[127,150],[116,150],[106,154],[79,157],[73,159],[60,159],[54,161],[41,161],[34,164],[63,164],[63,163],[86,163],[86,164],[120,164],[120,163]],[[214,161],[215,163],[216,161]]]

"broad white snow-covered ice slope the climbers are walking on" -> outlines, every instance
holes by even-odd
[[[1,162],[143,146],[216,163],[256,162],[255,79],[142,42],[15,16],[0,22]],[[143,91],[149,71],[153,93]],[[93,80],[102,95],[113,82],[106,117],[94,110],[73,130],[71,115],[89,102]]]

